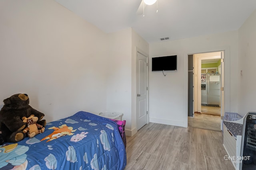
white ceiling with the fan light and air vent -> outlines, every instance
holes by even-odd
[[[55,0],[106,33],[132,27],[148,43],[238,30],[256,0],[158,0],[137,15],[141,0]],[[164,40],[167,41],[167,40]]]

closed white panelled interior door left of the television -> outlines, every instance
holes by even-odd
[[[148,58],[137,52],[137,130],[148,123]]]

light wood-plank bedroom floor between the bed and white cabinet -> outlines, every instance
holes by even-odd
[[[222,132],[149,123],[126,137],[125,170],[234,170]]]

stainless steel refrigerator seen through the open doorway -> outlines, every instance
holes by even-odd
[[[201,103],[220,107],[220,74],[201,74]]]

